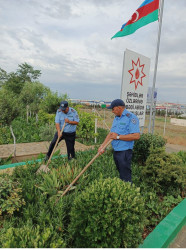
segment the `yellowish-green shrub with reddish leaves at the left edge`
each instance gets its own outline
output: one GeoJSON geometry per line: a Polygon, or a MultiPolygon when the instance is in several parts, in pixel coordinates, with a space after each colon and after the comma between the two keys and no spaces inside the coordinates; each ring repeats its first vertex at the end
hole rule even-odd
{"type": "Polygon", "coordinates": [[[20,184],[12,181],[8,176],[0,176],[0,215],[12,215],[23,205],[25,201],[22,198],[20,184]]]}

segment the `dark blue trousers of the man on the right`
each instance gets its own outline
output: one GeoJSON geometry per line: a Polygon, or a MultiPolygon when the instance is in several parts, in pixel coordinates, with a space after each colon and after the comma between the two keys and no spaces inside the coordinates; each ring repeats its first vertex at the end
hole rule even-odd
{"type": "Polygon", "coordinates": [[[132,149],[124,151],[114,151],[114,161],[120,174],[120,179],[123,181],[132,182],[131,176],[131,161],[132,149]]]}

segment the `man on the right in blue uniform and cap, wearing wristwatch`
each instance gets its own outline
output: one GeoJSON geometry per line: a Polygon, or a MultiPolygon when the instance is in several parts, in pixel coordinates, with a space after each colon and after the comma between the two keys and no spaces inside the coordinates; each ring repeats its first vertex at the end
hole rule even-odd
{"type": "Polygon", "coordinates": [[[108,107],[115,114],[110,133],[107,135],[98,152],[104,153],[103,146],[110,140],[114,149],[114,161],[123,181],[132,182],[131,160],[134,140],[140,138],[139,119],[133,113],[125,109],[125,103],[121,99],[111,102],[108,107]]]}

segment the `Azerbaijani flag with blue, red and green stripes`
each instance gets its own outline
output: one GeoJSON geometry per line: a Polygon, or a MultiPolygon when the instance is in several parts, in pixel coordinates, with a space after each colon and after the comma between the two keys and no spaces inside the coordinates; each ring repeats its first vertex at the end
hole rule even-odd
{"type": "Polygon", "coordinates": [[[131,19],[123,24],[121,30],[112,38],[127,36],[134,33],[137,29],[158,20],[158,14],[159,0],[145,0],[134,12],[131,19]]]}

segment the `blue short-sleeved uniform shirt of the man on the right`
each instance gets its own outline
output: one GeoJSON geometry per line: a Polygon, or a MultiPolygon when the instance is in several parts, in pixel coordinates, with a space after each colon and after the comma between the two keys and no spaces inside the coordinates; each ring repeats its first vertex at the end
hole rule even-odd
{"type": "MultiPolygon", "coordinates": [[[[136,115],[124,109],[122,115],[116,116],[113,123],[111,132],[115,132],[118,135],[128,135],[133,133],[139,133],[139,119],[136,115]]],[[[114,151],[123,151],[127,149],[133,149],[134,141],[122,141],[113,140],[112,147],[114,151]]]]}

